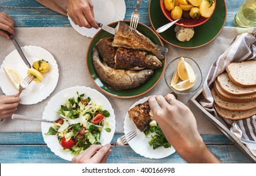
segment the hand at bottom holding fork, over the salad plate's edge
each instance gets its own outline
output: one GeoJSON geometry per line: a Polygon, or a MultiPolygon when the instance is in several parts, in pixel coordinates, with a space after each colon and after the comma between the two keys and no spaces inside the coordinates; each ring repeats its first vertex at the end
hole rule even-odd
{"type": "Polygon", "coordinates": [[[105,163],[111,153],[111,145],[91,145],[82,153],[73,157],[71,163],[105,163]]]}

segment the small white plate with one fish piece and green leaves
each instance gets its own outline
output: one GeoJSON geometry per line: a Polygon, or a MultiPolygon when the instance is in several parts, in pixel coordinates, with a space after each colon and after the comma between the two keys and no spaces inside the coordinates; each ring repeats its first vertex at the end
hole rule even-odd
{"type": "MultiPolygon", "coordinates": [[[[135,102],[131,108],[146,101],[148,101],[148,97],[144,97],[143,99],[135,102]]],[[[164,148],[163,146],[153,150],[153,147],[148,144],[150,138],[146,138],[145,134],[136,128],[135,124],[132,123],[131,119],[129,118],[129,114],[127,113],[124,120],[124,133],[127,134],[132,130],[137,132],[137,136],[129,141],[129,145],[137,154],[146,158],[160,159],[168,157],[175,152],[173,147],[164,148]]]]}

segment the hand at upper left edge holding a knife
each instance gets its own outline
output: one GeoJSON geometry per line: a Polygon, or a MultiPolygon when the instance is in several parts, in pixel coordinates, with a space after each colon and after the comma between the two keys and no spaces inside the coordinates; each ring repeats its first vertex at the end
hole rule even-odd
{"type": "Polygon", "coordinates": [[[0,35],[10,40],[11,38],[9,35],[3,30],[8,31],[12,35],[15,33],[15,22],[13,21],[13,18],[6,13],[0,13],[0,35]]]}

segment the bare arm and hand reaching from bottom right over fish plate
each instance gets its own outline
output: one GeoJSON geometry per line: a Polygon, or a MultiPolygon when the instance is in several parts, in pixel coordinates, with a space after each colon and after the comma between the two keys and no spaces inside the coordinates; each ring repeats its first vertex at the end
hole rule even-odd
{"type": "Polygon", "coordinates": [[[220,163],[209,151],[199,132],[189,107],[175,99],[173,94],[149,97],[149,106],[177,153],[189,163],[220,163]]]}

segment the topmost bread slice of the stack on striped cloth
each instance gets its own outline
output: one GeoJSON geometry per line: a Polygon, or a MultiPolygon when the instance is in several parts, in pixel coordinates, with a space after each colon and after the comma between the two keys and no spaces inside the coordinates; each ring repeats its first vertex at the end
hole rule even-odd
{"type": "Polygon", "coordinates": [[[256,60],[230,62],[226,66],[226,72],[236,85],[256,86],[256,60]]]}

